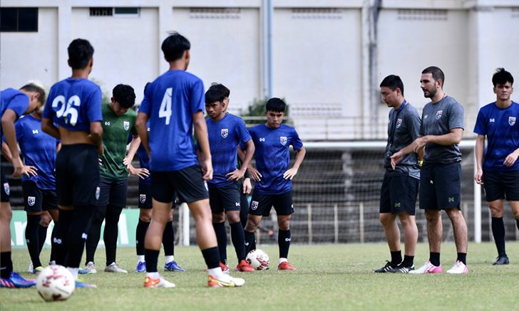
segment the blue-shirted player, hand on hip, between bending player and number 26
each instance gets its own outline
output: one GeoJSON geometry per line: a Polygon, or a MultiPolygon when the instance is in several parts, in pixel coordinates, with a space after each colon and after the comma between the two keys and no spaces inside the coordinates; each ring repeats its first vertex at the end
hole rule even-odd
{"type": "MultiPolygon", "coordinates": [[[[54,221],[53,233],[58,223],[58,203],[56,199],[56,178],[54,177],[54,163],[59,141],[41,130],[41,114],[45,97],[38,98],[38,107],[26,117],[16,122],[16,140],[21,154],[24,155],[24,174],[21,187],[24,195],[27,225],[25,238],[27,249],[31,257],[31,273],[43,270],[40,261],[40,252],[47,235],[48,222],[51,217],[54,221]],[[42,223],[46,226],[42,226],[42,223]]],[[[11,152],[2,143],[4,154],[11,162],[11,152]]],[[[53,253],[51,252],[51,260],[53,253]]]]}

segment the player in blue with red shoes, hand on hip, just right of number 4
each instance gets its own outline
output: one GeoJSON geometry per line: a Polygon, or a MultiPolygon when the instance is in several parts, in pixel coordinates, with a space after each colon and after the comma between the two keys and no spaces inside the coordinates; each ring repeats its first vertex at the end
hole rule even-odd
{"type": "MultiPolygon", "coordinates": [[[[212,156],[214,172],[212,180],[207,181],[209,203],[212,210],[212,226],[215,228],[218,248],[220,249],[220,266],[229,270],[227,257],[227,232],[225,230],[225,214],[231,227],[232,244],[235,246],[238,265],[235,270],[252,272],[254,269],[245,261],[245,236],[240,222],[240,186],[241,179],[252,159],[255,147],[245,122],[240,117],[225,113],[226,93],[217,88],[210,88],[205,93],[205,110],[207,132],[212,156]],[[246,154],[243,165],[237,169],[237,147],[245,145],[246,154]]],[[[227,97],[228,98],[228,97],[227,97]]]]}

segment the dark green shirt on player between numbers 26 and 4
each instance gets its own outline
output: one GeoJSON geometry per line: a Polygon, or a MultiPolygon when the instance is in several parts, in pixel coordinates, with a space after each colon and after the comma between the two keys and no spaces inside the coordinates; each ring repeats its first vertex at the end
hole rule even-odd
{"type": "Polygon", "coordinates": [[[126,145],[130,133],[137,135],[135,120],[137,112],[129,109],[124,115],[118,117],[110,109],[110,106],[103,105],[103,147],[105,154],[100,159],[100,176],[104,179],[127,179],[128,169],[123,164],[126,157],[126,145]]]}

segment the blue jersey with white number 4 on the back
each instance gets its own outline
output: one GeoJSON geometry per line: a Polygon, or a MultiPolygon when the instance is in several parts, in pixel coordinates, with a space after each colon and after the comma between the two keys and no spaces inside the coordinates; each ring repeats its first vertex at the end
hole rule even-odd
{"type": "Polygon", "coordinates": [[[204,110],[204,85],[184,70],[169,70],[146,88],[139,112],[149,117],[152,171],[178,171],[198,163],[192,115],[204,110]]]}

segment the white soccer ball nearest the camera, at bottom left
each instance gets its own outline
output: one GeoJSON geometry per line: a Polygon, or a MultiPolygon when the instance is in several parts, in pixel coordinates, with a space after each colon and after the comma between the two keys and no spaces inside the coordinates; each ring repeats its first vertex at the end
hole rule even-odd
{"type": "Polygon", "coordinates": [[[38,274],[36,288],[43,300],[66,300],[76,289],[76,281],[63,265],[49,265],[38,274]]]}

